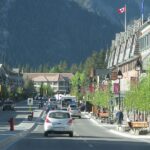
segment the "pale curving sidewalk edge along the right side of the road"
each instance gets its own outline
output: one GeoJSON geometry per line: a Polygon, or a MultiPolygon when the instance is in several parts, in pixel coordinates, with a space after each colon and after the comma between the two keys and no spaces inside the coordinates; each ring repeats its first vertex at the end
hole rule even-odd
{"type": "Polygon", "coordinates": [[[133,134],[132,131],[125,131],[125,130],[122,130],[122,128],[118,128],[117,124],[101,123],[99,119],[96,119],[90,113],[83,112],[83,114],[85,115],[86,118],[89,118],[93,123],[95,123],[98,126],[104,127],[105,129],[108,129],[108,131],[113,134],[123,136],[123,137],[133,138],[133,139],[139,139],[140,141],[150,143],[150,132],[148,132],[148,134],[145,134],[145,135],[135,135],[133,134]]]}

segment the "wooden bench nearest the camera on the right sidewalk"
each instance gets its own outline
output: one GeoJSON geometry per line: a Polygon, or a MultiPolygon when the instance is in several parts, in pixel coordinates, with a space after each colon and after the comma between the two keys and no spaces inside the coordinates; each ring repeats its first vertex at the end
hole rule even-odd
{"type": "Polygon", "coordinates": [[[147,131],[146,128],[149,127],[149,123],[146,121],[134,121],[130,122],[129,126],[134,131],[134,134],[139,134],[140,131],[147,131]]]}

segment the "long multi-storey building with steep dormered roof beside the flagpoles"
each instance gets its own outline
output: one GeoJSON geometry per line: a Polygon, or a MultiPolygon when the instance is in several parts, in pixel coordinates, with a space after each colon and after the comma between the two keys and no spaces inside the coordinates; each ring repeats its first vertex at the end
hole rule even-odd
{"type": "Polygon", "coordinates": [[[115,40],[109,51],[107,69],[112,78],[112,92],[115,95],[115,103],[121,101],[125,93],[131,89],[132,84],[137,84],[145,76],[150,66],[150,19],[141,24],[136,20],[127,27],[126,32],[116,34],[115,40]],[[136,69],[139,67],[139,69],[136,69]],[[122,78],[117,78],[118,70],[122,72],[122,78]]]}

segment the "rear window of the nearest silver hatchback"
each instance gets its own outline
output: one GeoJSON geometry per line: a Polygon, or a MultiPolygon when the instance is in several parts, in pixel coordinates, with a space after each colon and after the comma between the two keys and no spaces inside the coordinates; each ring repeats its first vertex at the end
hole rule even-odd
{"type": "Polygon", "coordinates": [[[55,119],[67,119],[70,118],[70,114],[65,112],[52,112],[49,114],[49,117],[55,119]]]}

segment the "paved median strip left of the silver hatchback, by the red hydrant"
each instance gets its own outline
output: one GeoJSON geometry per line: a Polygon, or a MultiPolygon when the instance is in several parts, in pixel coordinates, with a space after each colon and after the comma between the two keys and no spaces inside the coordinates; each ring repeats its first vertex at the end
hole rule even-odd
{"type": "Polygon", "coordinates": [[[36,122],[42,114],[43,110],[34,110],[32,121],[28,121],[28,119],[25,118],[19,125],[14,126],[14,131],[8,129],[7,131],[0,132],[0,150],[30,133],[31,130],[35,128],[36,122]]]}

